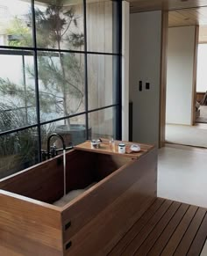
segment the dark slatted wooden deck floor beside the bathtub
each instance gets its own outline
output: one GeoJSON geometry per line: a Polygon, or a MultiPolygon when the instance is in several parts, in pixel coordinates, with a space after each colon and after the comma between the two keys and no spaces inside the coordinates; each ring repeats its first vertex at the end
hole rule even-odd
{"type": "Polygon", "coordinates": [[[158,198],[108,255],[198,256],[207,238],[206,211],[158,198]]]}

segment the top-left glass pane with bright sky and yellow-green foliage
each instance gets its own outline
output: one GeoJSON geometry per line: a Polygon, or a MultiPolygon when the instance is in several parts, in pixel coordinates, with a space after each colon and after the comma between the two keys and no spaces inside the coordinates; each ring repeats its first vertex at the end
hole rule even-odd
{"type": "Polygon", "coordinates": [[[31,1],[0,0],[0,45],[32,47],[31,1]]]}

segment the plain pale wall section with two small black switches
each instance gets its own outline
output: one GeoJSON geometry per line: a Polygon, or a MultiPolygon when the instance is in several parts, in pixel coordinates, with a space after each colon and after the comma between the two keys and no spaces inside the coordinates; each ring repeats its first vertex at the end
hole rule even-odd
{"type": "Polygon", "coordinates": [[[161,80],[161,11],[130,15],[130,99],[132,140],[159,143],[161,80]],[[139,80],[143,91],[139,91],[139,80]],[[150,90],[145,83],[150,82],[150,90]]]}

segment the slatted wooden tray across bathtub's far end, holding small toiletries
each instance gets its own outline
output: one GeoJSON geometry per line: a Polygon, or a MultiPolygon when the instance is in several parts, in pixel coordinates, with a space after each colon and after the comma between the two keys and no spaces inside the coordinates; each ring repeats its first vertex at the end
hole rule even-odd
{"type": "Polygon", "coordinates": [[[109,142],[110,142],[109,140],[102,139],[102,143],[100,143],[99,148],[96,149],[93,146],[91,146],[90,141],[86,141],[85,143],[75,146],[75,149],[76,150],[92,151],[92,152],[103,153],[103,154],[110,154],[110,155],[121,155],[123,157],[130,157],[130,158],[139,158],[142,155],[145,155],[146,152],[148,152],[149,150],[152,150],[154,147],[153,145],[139,143],[141,150],[139,152],[134,152],[132,150],[129,150],[131,145],[134,143],[115,141],[115,149],[112,150],[109,142]],[[125,154],[118,153],[118,144],[119,143],[125,143],[125,147],[126,147],[125,154]]]}

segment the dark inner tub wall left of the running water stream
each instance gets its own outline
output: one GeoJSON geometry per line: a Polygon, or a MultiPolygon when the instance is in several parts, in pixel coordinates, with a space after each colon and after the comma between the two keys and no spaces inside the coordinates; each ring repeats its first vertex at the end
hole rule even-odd
{"type": "Polygon", "coordinates": [[[0,182],[0,189],[52,203],[63,195],[63,160],[55,157],[0,182]]]}

